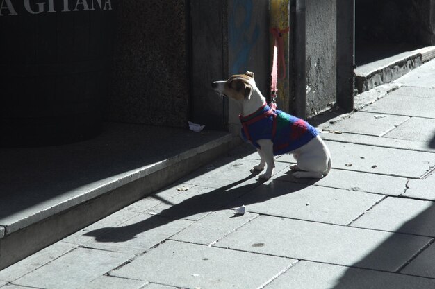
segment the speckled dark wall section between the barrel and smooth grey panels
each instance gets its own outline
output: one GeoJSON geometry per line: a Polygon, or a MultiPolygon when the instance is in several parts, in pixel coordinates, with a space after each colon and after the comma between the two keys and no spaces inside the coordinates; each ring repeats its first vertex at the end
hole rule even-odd
{"type": "Polygon", "coordinates": [[[129,0],[113,5],[117,25],[106,119],[186,126],[186,0],[129,0]]]}

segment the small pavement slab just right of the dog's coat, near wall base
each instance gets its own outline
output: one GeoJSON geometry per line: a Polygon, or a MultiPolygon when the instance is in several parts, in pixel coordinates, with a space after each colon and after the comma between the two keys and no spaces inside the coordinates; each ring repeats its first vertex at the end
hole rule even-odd
{"type": "Polygon", "coordinates": [[[330,125],[327,130],[380,137],[408,119],[408,116],[355,112],[346,119],[330,125]]]}

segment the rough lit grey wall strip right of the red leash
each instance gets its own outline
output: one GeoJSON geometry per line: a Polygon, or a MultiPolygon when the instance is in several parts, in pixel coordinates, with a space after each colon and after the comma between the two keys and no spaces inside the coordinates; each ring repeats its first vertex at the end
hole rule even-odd
{"type": "Polygon", "coordinates": [[[306,116],[336,100],[336,0],[306,0],[306,116]]]}

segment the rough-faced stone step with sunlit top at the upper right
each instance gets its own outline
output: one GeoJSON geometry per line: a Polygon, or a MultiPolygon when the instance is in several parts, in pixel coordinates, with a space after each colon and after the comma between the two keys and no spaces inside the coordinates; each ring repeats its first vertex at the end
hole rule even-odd
{"type": "Polygon", "coordinates": [[[361,94],[363,91],[393,82],[432,58],[435,58],[435,46],[407,51],[356,67],[355,89],[361,94]]]}

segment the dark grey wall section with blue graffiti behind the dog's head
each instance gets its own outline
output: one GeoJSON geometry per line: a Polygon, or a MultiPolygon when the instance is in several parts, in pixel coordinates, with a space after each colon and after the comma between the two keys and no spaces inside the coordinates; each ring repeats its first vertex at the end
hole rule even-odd
{"type": "Polygon", "coordinates": [[[267,93],[268,13],[263,0],[190,0],[193,121],[238,134],[240,107],[211,89],[215,80],[249,70],[267,93]]]}

